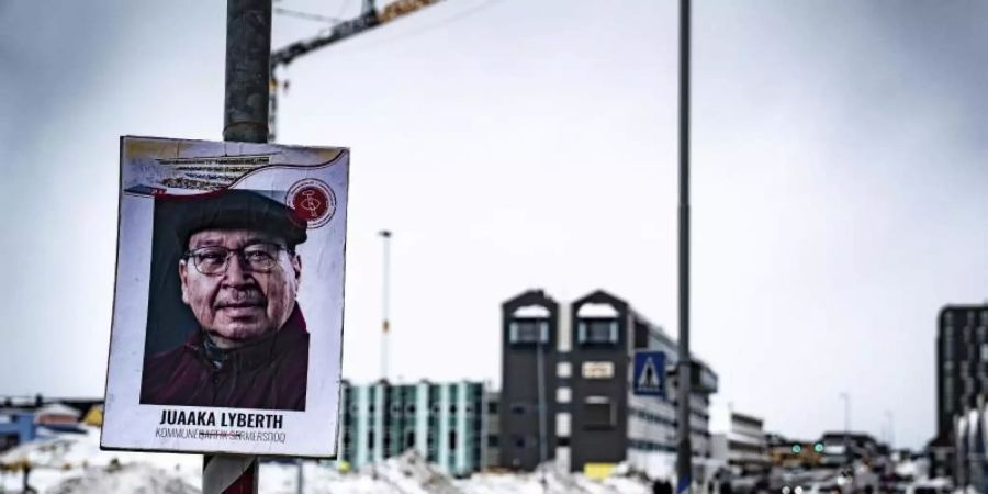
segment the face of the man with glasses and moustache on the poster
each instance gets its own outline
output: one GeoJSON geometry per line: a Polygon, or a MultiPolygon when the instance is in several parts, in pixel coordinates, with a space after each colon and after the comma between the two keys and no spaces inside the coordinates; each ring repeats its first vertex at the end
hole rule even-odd
{"type": "MultiPolygon", "coordinates": [[[[245,256],[231,254],[226,270],[203,274],[193,258],[179,261],[182,302],[221,348],[234,348],[277,332],[292,313],[302,261],[287,251],[284,239],[252,229],[204,229],[189,238],[189,250],[225,247],[252,250],[277,245],[267,272],[251,269],[245,256]]],[[[200,265],[202,267],[202,263],[200,265]]]]}

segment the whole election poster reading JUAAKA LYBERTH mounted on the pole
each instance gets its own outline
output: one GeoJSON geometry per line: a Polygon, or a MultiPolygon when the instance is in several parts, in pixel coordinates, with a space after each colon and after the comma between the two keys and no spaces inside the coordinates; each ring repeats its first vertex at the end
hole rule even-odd
{"type": "Polygon", "coordinates": [[[103,449],[332,458],[349,150],[122,137],[103,449]]]}

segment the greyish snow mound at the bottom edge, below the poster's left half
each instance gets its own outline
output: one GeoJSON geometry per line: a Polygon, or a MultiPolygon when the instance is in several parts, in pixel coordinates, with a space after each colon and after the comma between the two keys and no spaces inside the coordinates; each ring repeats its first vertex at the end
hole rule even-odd
{"type": "Polygon", "coordinates": [[[45,491],[46,494],[197,494],[198,487],[161,469],[148,464],[87,469],[45,491]]]}

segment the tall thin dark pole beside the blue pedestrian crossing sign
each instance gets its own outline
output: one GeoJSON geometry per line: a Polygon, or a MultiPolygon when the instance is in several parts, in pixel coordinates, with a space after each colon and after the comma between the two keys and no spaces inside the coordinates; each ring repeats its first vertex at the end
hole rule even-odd
{"type": "Polygon", "coordinates": [[[689,440],[689,0],[680,0],[680,348],[676,492],[689,492],[693,445],[689,440]]]}

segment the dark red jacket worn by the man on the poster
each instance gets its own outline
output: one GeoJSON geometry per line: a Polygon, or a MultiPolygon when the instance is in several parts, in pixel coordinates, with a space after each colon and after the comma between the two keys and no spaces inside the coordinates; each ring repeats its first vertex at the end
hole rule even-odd
{"type": "Polygon", "coordinates": [[[304,411],[307,375],[308,332],[296,305],[281,329],[227,351],[220,368],[205,356],[202,332],[147,359],[141,403],[304,411]]]}

